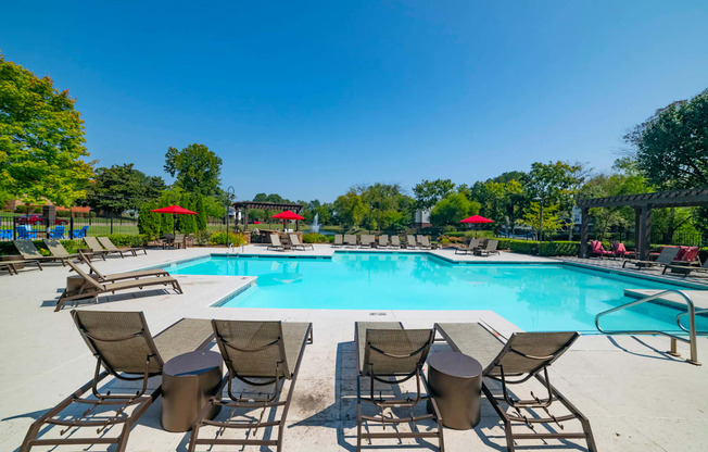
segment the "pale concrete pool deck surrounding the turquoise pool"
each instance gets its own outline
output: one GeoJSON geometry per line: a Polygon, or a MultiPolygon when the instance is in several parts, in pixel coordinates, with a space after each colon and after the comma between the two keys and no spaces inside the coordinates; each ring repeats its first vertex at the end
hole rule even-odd
{"type": "MultiPolygon", "coordinates": [[[[346,249],[344,249],[346,250],[346,249]]],[[[123,272],[168,262],[223,253],[224,249],[150,250],[148,255],[96,261],[100,271],[123,272]]],[[[273,254],[264,247],[244,247],[245,253],[273,254]]],[[[293,255],[331,255],[331,247],[293,255]]],[[[557,262],[543,258],[502,253],[501,256],[454,255],[444,259],[484,263],[557,262]]],[[[94,359],[80,339],[66,306],[55,313],[54,300],[68,269],[47,266],[43,272],[22,271],[0,276],[2,319],[0,343],[0,450],[16,450],[28,426],[46,410],[88,381],[94,359]]],[[[126,292],[81,303],[77,309],[143,311],[153,334],[181,317],[251,318],[312,322],[315,342],[305,350],[295,398],[285,432],[286,451],[353,451],[356,445],[356,404],[353,331],[356,321],[400,321],[408,328],[431,327],[434,322],[482,321],[508,335],[517,328],[491,311],[344,311],[218,309],[210,305],[232,293],[251,278],[238,276],[177,276],[185,294],[172,291],[126,292]],[[151,296],[148,296],[150,292],[151,296]]],[[[699,451],[708,444],[708,339],[699,338],[693,366],[665,353],[669,340],[660,337],[583,336],[551,368],[554,385],[589,418],[600,451],[699,451]]],[[[446,346],[435,344],[433,352],[446,346]]],[[[687,347],[679,344],[687,356],[687,347]]],[[[154,384],[154,382],[153,382],[154,384]]],[[[536,388],[532,388],[536,389],[536,388]]],[[[519,391],[528,395],[527,391],[519,391]]],[[[186,451],[190,434],[172,434],[160,427],[161,400],[134,427],[128,451],[186,451]]],[[[504,429],[488,402],[482,422],[466,431],[445,429],[445,447],[455,451],[503,451],[504,429]]],[[[585,450],[584,442],[522,441],[519,449],[585,450]],[[522,448],[529,445],[530,448],[522,448]]],[[[438,450],[434,442],[376,441],[372,450],[438,450]]],[[[41,448],[33,450],[42,450],[41,448]]],[[[59,449],[66,450],[66,449],[59,449]]],[[[76,450],[76,449],[68,449],[76,450]]],[[[93,445],[91,451],[105,450],[93,445]]],[[[219,449],[220,450],[220,449],[219,449]]],[[[241,450],[241,449],[232,449],[241,450]]],[[[255,448],[246,450],[256,450],[255,448]]],[[[264,449],[267,450],[267,449],[264,449]]],[[[366,448],[365,448],[366,450],[366,448]]]]}

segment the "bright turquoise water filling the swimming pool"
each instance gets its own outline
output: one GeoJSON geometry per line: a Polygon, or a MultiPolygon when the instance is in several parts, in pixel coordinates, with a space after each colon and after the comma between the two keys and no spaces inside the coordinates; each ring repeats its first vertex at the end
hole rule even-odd
{"type": "MultiPolygon", "coordinates": [[[[332,259],[211,256],[177,275],[257,276],[224,307],[491,310],[528,331],[596,331],[595,315],[632,299],[623,289],[685,289],[560,264],[465,265],[427,254],[334,253],[332,259]]],[[[608,329],[675,330],[678,311],[645,303],[610,314],[608,329]]],[[[708,319],[698,326],[708,329],[708,319]]]]}

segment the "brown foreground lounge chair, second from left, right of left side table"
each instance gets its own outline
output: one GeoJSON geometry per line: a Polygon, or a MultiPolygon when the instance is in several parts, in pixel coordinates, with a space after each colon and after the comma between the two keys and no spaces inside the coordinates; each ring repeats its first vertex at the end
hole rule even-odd
{"type": "MultiPolygon", "coordinates": [[[[224,363],[228,369],[228,399],[222,399],[220,394],[225,382],[222,382],[217,394],[204,406],[200,416],[194,422],[192,435],[189,441],[189,451],[193,452],[197,445],[271,445],[277,451],[282,450],[282,436],[286,428],[288,410],[292,402],[295,381],[300,373],[300,364],[305,351],[305,346],[313,342],[312,324],[309,323],[286,323],[286,322],[246,322],[246,321],[212,321],[216,343],[218,344],[224,363]],[[233,390],[233,380],[238,379],[249,387],[252,392],[258,395],[244,393],[243,388],[238,392],[233,390]],[[290,380],[288,394],[281,399],[283,380],[290,380]],[[263,393],[260,388],[267,385],[275,385],[271,393],[263,393]],[[237,409],[258,411],[263,413],[270,409],[273,416],[266,420],[258,417],[246,419],[232,419],[230,416],[225,422],[210,420],[208,414],[214,407],[227,407],[233,413],[237,409]],[[276,414],[279,418],[275,418],[276,414]],[[277,439],[245,438],[220,438],[218,435],[210,435],[200,438],[200,429],[205,426],[217,427],[218,429],[255,429],[274,427],[278,429],[277,439]]],[[[243,386],[237,381],[239,387],[243,386]]],[[[246,391],[248,392],[248,391],[246,391]]],[[[246,416],[249,416],[246,414],[246,416]]],[[[255,434],[255,430],[252,434],[255,434]]]]}

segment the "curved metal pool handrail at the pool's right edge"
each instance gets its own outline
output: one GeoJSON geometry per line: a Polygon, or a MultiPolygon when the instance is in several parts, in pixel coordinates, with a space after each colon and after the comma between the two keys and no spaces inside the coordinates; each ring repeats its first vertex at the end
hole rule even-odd
{"type": "Polygon", "coordinates": [[[696,313],[701,314],[704,312],[708,312],[708,309],[699,309],[696,310],[696,306],[687,294],[685,294],[681,290],[663,290],[661,292],[655,293],[650,297],[647,298],[641,298],[639,300],[631,301],[629,303],[622,304],[621,306],[612,307],[611,310],[603,311],[599,314],[595,316],[595,327],[597,327],[597,330],[599,332],[603,332],[605,335],[662,335],[671,338],[671,350],[669,351],[669,354],[672,356],[681,356],[681,354],[677,350],[677,341],[682,341],[688,343],[691,348],[691,359],[686,360],[691,364],[695,364],[697,366],[700,365],[698,362],[698,348],[696,343],[696,336],[697,335],[706,335],[708,331],[696,331],[696,313]],[[599,317],[603,317],[607,314],[611,314],[617,311],[624,310],[627,307],[632,307],[636,306],[637,304],[646,303],[647,301],[653,301],[662,298],[666,294],[672,294],[677,293],[679,294],[683,301],[686,302],[686,312],[682,312],[679,315],[677,315],[677,325],[679,328],[682,330],[686,331],[688,334],[688,339],[685,337],[672,335],[667,331],[658,331],[658,330],[652,330],[652,329],[639,329],[639,330],[631,330],[631,329],[618,329],[618,330],[605,330],[599,327],[599,317]],[[688,316],[688,329],[684,328],[683,325],[681,325],[681,319],[684,316],[688,316]]]}

